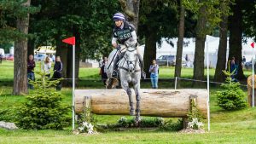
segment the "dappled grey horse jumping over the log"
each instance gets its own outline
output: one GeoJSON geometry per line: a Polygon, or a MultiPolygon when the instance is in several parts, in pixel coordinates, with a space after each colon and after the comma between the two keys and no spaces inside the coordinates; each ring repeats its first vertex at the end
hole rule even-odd
{"type": "MultiPolygon", "coordinates": [[[[125,89],[128,97],[129,97],[129,104],[130,104],[130,115],[136,115],[135,121],[136,124],[140,122],[140,79],[141,79],[141,67],[139,66],[138,54],[137,54],[137,47],[135,46],[126,46],[125,49],[121,49],[123,52],[122,58],[119,60],[119,78],[121,82],[121,86],[125,89]],[[137,107],[136,111],[133,106],[132,100],[132,92],[130,89],[129,84],[133,84],[133,89],[136,95],[137,107]]],[[[113,66],[111,60],[113,57],[116,56],[118,51],[113,50],[108,57],[108,78],[111,78],[111,73],[113,72],[113,66]]]]}

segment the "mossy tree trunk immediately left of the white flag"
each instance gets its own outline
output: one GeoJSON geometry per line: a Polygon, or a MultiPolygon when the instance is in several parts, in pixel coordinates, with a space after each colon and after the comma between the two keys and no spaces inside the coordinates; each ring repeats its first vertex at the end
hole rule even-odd
{"type": "MultiPolygon", "coordinates": [[[[205,41],[206,41],[206,6],[201,6],[199,11],[199,18],[196,24],[196,35],[195,35],[195,59],[194,59],[194,72],[193,79],[203,80],[204,79],[204,59],[205,59],[205,41]]],[[[203,83],[194,82],[194,86],[201,86],[203,83]]]]}

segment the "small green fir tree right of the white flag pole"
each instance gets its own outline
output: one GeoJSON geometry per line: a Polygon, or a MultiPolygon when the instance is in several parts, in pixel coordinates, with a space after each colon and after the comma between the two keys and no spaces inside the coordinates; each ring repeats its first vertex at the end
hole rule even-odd
{"type": "Polygon", "coordinates": [[[245,93],[241,90],[240,84],[232,82],[231,78],[226,78],[227,84],[222,84],[223,90],[217,91],[218,106],[225,110],[238,110],[247,107],[245,93]]]}

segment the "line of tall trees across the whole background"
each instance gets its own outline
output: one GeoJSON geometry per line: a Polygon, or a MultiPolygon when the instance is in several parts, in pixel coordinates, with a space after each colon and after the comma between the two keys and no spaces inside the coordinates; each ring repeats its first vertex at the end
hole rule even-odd
{"type": "MultiPolygon", "coordinates": [[[[139,43],[145,44],[144,71],[156,59],[156,43],[178,37],[175,76],[182,68],[183,37],[195,37],[194,79],[204,78],[206,35],[218,30],[218,62],[214,81],[223,82],[228,37],[229,59],[236,57],[237,78],[243,79],[241,43],[255,36],[254,0],[1,0],[0,44],[15,42],[14,94],[27,93],[26,60],[43,45],[56,48],[61,56],[64,78],[72,78],[72,49],[61,40],[75,36],[76,78],[79,60],[101,59],[113,49],[112,15],[123,12],[137,27],[139,43]],[[19,74],[18,74],[19,73],[19,74]]],[[[149,74],[148,74],[149,76],[149,74]]],[[[68,83],[67,83],[68,84],[68,83]]],[[[197,85],[197,84],[196,84],[197,85]]]]}

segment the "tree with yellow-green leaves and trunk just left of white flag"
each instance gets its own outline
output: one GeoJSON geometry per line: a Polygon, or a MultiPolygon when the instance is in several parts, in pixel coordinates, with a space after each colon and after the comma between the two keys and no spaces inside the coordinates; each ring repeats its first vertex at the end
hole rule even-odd
{"type": "MultiPolygon", "coordinates": [[[[219,9],[220,0],[191,0],[184,1],[186,9],[191,10],[197,16],[196,35],[195,35],[195,59],[193,78],[202,80],[204,78],[204,49],[206,35],[218,26],[221,21],[221,15],[225,10],[219,9]]],[[[201,85],[195,82],[194,85],[201,85]]]]}

